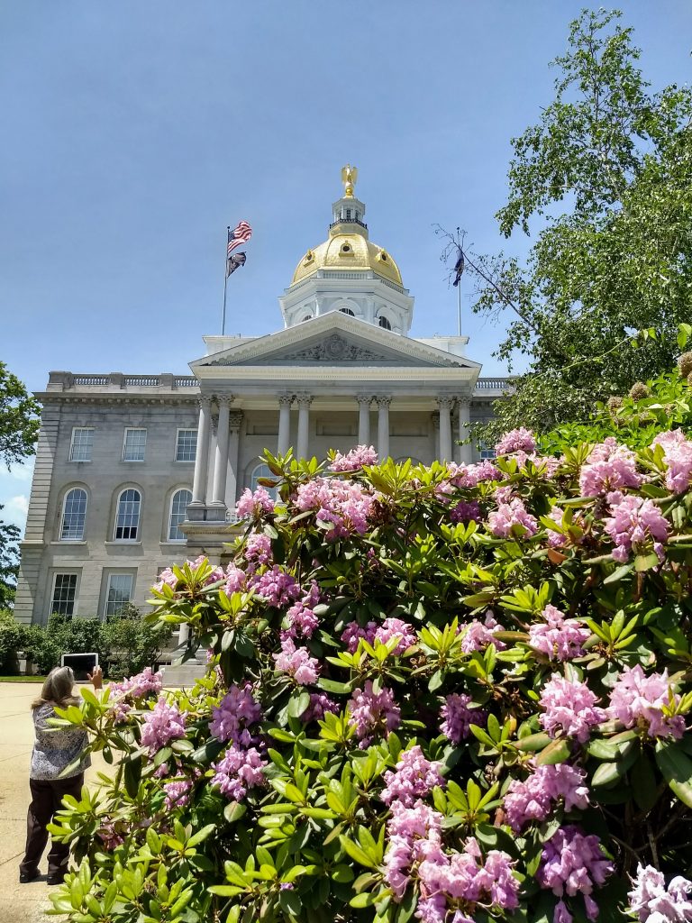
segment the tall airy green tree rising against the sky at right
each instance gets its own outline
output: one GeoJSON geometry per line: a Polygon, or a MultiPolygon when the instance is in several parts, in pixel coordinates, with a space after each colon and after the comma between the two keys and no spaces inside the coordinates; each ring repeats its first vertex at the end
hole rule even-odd
{"type": "Polygon", "coordinates": [[[692,293],[692,94],[650,92],[620,13],[585,10],[555,58],[555,100],[513,138],[502,234],[532,237],[524,264],[467,253],[473,310],[507,316],[496,355],[528,360],[486,432],[587,416],[673,365],[692,293]],[[656,339],[632,349],[637,330],[656,339]]]}

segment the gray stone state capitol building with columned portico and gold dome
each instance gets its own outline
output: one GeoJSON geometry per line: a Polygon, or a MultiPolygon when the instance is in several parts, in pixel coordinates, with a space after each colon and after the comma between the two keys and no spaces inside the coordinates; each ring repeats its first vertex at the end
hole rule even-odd
{"type": "Polygon", "coordinates": [[[327,240],[279,298],[283,328],[207,336],[191,375],[51,372],[21,543],[15,615],[117,614],[145,605],[161,569],[223,557],[235,500],[266,476],[268,448],[324,458],[475,461],[456,440],[492,415],[506,378],[481,378],[467,337],[413,339],[413,297],[369,239],[353,183],[327,240]]]}

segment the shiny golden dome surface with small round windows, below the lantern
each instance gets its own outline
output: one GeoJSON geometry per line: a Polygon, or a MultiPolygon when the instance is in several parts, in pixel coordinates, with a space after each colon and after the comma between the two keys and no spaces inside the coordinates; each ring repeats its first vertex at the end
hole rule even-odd
{"type": "Polygon", "coordinates": [[[387,250],[366,240],[363,234],[348,234],[339,228],[332,229],[324,244],[307,251],[295,268],[291,284],[301,282],[317,270],[372,270],[389,282],[402,284],[399,267],[387,250]]]}

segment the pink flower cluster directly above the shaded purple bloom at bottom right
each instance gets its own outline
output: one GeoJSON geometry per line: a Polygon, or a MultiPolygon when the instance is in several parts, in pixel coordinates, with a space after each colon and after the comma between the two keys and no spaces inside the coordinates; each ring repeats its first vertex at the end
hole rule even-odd
{"type": "Polygon", "coordinates": [[[505,796],[507,823],[521,833],[527,823],[544,821],[555,801],[565,799],[565,810],[589,807],[586,773],[567,762],[555,766],[537,766],[524,782],[513,779],[505,796]]]}

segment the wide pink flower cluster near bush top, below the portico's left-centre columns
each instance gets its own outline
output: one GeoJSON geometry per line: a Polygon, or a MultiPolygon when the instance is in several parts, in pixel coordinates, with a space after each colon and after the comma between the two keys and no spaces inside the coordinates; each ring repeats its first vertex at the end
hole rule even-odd
{"type": "Polygon", "coordinates": [[[352,533],[364,535],[374,501],[375,497],[354,481],[316,477],[299,485],[294,502],[297,509],[316,510],[316,521],[330,524],[326,535],[334,541],[352,533]]]}

